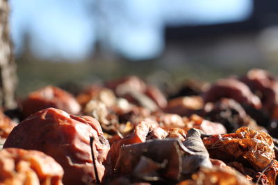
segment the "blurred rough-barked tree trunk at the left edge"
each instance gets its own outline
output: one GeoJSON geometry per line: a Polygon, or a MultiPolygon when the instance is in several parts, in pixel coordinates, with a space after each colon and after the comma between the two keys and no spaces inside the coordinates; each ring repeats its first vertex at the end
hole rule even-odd
{"type": "Polygon", "coordinates": [[[8,0],[0,0],[0,107],[16,107],[15,86],[17,83],[13,46],[8,24],[10,8],[8,0]]]}

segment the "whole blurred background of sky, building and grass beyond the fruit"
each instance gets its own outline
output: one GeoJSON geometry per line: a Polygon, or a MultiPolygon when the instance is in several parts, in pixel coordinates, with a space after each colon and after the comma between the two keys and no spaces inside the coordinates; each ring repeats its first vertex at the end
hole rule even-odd
{"type": "Polygon", "coordinates": [[[213,81],[278,73],[278,1],[10,0],[17,94],[131,74],[213,81]]]}

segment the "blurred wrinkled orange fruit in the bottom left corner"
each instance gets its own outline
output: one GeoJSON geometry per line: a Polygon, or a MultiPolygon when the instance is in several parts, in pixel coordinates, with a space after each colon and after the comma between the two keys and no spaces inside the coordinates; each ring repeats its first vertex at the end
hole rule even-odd
{"type": "Polygon", "coordinates": [[[0,184],[61,185],[63,168],[52,157],[36,150],[0,150],[0,184]]]}

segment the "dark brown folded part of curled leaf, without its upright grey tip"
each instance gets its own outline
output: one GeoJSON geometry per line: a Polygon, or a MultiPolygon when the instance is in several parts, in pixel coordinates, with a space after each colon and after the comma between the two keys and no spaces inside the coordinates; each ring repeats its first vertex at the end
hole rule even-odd
{"type": "MultiPolygon", "coordinates": [[[[158,173],[158,177],[177,180],[181,175],[181,157],[185,152],[191,155],[195,154],[184,147],[179,139],[154,139],[145,143],[122,146],[115,168],[113,168],[113,175],[114,177],[120,177],[122,175],[129,175],[134,169],[142,170],[142,166],[138,165],[141,165],[140,162],[146,163],[141,158],[144,156],[155,162],[147,162],[149,166],[152,166],[152,169],[151,167],[149,169],[146,168],[146,173],[154,174],[154,176],[158,173]]],[[[140,173],[142,174],[143,172],[141,171],[140,173]]]]}

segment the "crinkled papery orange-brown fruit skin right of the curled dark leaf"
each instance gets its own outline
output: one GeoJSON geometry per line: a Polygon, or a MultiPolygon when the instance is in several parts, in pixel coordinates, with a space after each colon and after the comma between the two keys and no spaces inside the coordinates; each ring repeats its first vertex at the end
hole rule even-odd
{"type": "Polygon", "coordinates": [[[275,146],[272,137],[265,132],[258,132],[250,127],[240,127],[236,133],[205,137],[203,142],[213,159],[246,160],[257,172],[267,168],[265,175],[269,184],[276,184],[278,161],[275,160],[275,146]]]}

